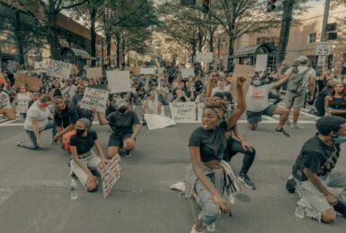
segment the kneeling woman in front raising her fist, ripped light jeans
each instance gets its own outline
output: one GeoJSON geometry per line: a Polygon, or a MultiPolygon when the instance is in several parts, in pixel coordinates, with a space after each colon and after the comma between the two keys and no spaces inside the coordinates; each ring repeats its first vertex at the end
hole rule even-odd
{"type": "Polygon", "coordinates": [[[226,121],[219,121],[218,110],[213,105],[206,105],[202,113],[202,126],[191,134],[191,166],[184,178],[185,196],[193,196],[202,208],[191,233],[203,232],[203,229],[215,223],[220,211],[229,214],[229,207],[222,196],[225,193],[232,195],[240,189],[236,187],[236,178],[231,177],[232,169],[223,159],[226,130],[236,125],[246,109],[244,82],[244,78],[237,80],[237,108],[232,116],[226,121]],[[233,190],[229,190],[229,187],[233,190]]]}

